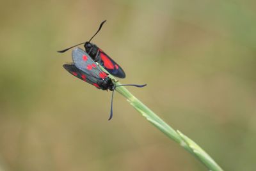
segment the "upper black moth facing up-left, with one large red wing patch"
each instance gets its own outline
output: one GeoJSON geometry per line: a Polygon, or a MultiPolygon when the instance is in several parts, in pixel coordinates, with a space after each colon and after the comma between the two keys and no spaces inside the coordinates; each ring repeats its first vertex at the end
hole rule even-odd
{"type": "MultiPolygon", "coordinates": [[[[101,27],[103,26],[104,20],[98,29],[98,31],[92,36],[92,38],[89,41],[86,41],[84,43],[79,43],[78,45],[84,44],[84,48],[86,52],[92,57],[93,61],[99,63],[105,70],[107,70],[111,75],[114,75],[115,77],[119,78],[125,78],[125,72],[124,70],[118,65],[111,57],[109,57],[105,52],[103,52],[97,45],[90,43],[90,41],[93,39],[93,37],[100,31],[101,27]]],[[[78,45],[75,45],[73,47],[76,47],[78,45]]],[[[70,48],[73,48],[70,47],[70,48]]],[[[66,48],[64,50],[60,50],[58,52],[63,53],[69,50],[70,48],[66,48]]]]}

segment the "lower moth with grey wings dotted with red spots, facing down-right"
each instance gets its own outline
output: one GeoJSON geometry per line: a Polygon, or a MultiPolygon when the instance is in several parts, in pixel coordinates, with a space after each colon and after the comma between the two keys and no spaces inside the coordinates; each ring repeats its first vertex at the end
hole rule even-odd
{"type": "Polygon", "coordinates": [[[115,88],[118,86],[132,85],[135,87],[144,87],[144,85],[136,84],[125,84],[125,85],[115,85],[113,80],[108,77],[94,61],[93,59],[81,48],[75,48],[72,50],[72,60],[73,63],[64,64],[63,67],[72,75],[94,85],[98,89],[113,91],[111,98],[111,110],[109,120],[113,116],[113,96],[115,88]]]}

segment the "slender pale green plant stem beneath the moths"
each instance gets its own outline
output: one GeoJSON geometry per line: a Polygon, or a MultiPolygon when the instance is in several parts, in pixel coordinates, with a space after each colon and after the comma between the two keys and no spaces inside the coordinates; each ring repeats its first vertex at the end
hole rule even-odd
{"type": "MultiPolygon", "coordinates": [[[[112,79],[115,78],[109,75],[112,79]]],[[[121,85],[120,82],[115,82],[115,85],[121,85]]],[[[146,105],[144,105],[140,100],[133,96],[124,86],[116,87],[116,91],[122,96],[124,96],[127,101],[134,107],[140,114],[142,114],[150,123],[152,123],[156,128],[161,130],[167,137],[171,138],[175,142],[179,143],[186,151],[190,152],[199,161],[204,163],[204,165],[212,171],[220,171],[222,168],[212,160],[211,156],[207,154],[199,145],[197,145],[193,140],[186,137],[179,130],[173,130],[171,126],[166,124],[160,117],[158,117],[152,110],[150,110],[146,105]]]]}

